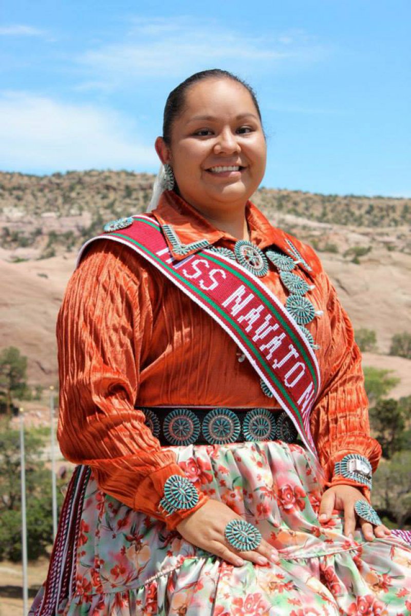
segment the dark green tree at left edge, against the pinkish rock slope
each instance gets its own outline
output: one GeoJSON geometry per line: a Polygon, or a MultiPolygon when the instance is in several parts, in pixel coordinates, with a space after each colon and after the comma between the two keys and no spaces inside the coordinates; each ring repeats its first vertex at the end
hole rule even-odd
{"type": "Polygon", "coordinates": [[[17,347],[7,347],[0,352],[0,392],[6,402],[6,413],[10,415],[13,396],[21,398],[27,389],[27,357],[17,347]]]}

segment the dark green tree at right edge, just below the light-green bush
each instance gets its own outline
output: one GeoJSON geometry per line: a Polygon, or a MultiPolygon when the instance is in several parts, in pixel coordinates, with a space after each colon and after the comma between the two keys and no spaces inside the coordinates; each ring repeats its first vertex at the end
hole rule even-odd
{"type": "Polygon", "coordinates": [[[375,438],[383,448],[383,456],[392,458],[405,444],[405,419],[407,415],[398,400],[379,400],[370,409],[370,422],[375,438]]]}

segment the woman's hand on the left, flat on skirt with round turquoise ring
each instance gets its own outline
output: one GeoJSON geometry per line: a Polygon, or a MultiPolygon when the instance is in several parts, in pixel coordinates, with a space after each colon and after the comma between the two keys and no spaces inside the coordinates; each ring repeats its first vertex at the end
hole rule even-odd
{"type": "Polygon", "coordinates": [[[241,520],[242,517],[237,516],[221,501],[210,499],[197,511],[185,517],[176,528],[189,543],[216,554],[237,567],[243,565],[244,561],[266,565],[268,561],[278,560],[277,550],[264,539],[261,539],[260,545],[253,551],[240,552],[230,545],[224,535],[224,529],[227,523],[234,519],[241,520]]]}

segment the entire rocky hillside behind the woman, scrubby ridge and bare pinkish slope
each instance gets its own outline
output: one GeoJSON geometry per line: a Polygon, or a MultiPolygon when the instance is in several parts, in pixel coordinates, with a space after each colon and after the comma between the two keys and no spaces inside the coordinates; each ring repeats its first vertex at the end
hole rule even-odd
{"type": "MultiPolygon", "coordinates": [[[[31,383],[57,381],[55,318],[79,246],[105,222],[144,211],[152,183],[126,171],[0,173],[0,348],[28,355],[31,383]]],[[[381,354],[394,333],[411,331],[410,200],[262,188],[254,202],[319,251],[354,328],[375,330],[381,354]]],[[[411,362],[397,364],[405,382],[411,362]]]]}

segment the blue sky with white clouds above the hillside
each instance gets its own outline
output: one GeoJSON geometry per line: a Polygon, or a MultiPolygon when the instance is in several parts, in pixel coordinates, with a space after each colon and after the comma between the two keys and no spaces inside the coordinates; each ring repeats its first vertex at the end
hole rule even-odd
{"type": "Polygon", "coordinates": [[[225,68],[261,103],[267,187],[411,197],[411,2],[42,2],[0,13],[0,170],[155,172],[168,92],[225,68]]]}

